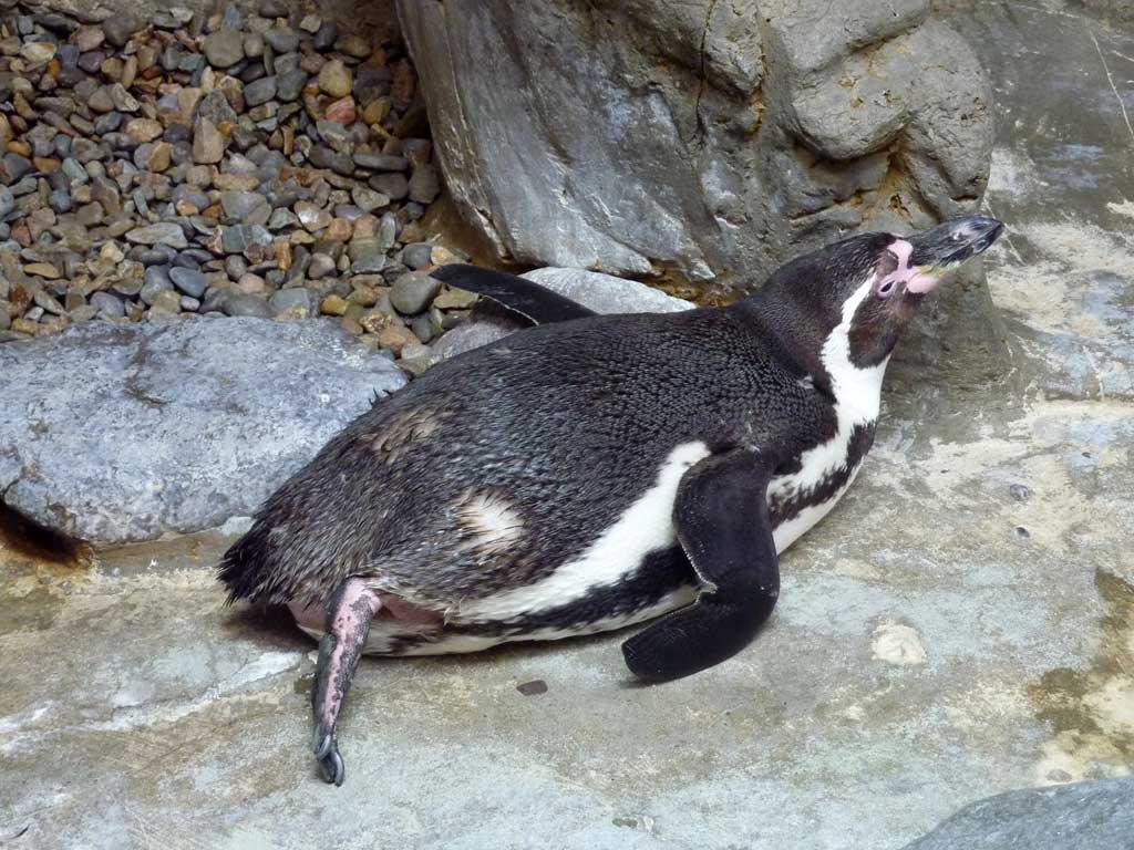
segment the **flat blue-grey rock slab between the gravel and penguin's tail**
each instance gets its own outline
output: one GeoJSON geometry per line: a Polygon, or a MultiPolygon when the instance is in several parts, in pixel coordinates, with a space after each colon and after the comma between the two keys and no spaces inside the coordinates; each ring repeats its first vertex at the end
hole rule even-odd
{"type": "Polygon", "coordinates": [[[0,494],[93,543],[249,516],[375,393],[390,360],[333,322],[91,323],[0,347],[0,494]]]}

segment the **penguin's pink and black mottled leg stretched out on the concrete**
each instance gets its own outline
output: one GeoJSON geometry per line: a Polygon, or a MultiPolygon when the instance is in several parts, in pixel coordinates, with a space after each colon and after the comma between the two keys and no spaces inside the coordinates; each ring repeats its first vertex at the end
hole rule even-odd
{"type": "Polygon", "coordinates": [[[319,641],[311,708],[315,758],[323,779],[336,785],[341,785],[345,779],[336,724],[366,645],[370,622],[381,609],[378,592],[361,578],[348,578],[339,585],[327,609],[327,634],[319,641]]]}

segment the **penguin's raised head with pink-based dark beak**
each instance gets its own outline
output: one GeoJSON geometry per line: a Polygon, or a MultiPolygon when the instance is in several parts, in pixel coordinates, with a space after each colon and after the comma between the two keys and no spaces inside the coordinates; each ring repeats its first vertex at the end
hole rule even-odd
{"type": "Polygon", "coordinates": [[[913,236],[863,233],[788,263],[769,279],[762,308],[804,362],[882,366],[941,278],[983,253],[1004,230],[972,215],[913,236]],[[769,300],[768,297],[771,297],[769,300]],[[785,308],[786,305],[787,306],[785,308]]]}

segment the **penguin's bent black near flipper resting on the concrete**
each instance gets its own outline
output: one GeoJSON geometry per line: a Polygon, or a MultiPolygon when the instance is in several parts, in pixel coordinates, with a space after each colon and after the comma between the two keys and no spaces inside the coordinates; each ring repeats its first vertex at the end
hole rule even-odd
{"type": "Polygon", "coordinates": [[[638,679],[665,682],[719,664],[747,646],[779,597],[779,561],[768,516],[768,470],[758,454],[705,458],[682,478],[677,537],[702,583],[687,607],[623,644],[638,679]]]}

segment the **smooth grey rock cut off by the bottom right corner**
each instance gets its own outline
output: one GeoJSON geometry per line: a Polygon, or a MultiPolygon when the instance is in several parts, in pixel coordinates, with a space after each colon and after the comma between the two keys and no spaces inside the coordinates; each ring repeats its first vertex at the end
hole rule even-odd
{"type": "Polygon", "coordinates": [[[1134,777],[1035,788],[966,806],[905,850],[1129,850],[1134,777]]]}

